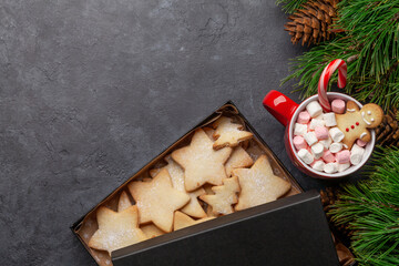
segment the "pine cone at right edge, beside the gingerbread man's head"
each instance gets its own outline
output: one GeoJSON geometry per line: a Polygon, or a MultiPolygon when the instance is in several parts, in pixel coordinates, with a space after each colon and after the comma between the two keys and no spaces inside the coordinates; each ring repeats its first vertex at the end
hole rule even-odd
{"type": "Polygon", "coordinates": [[[381,124],[376,129],[376,135],[380,145],[399,147],[399,121],[396,108],[383,115],[381,124]]]}

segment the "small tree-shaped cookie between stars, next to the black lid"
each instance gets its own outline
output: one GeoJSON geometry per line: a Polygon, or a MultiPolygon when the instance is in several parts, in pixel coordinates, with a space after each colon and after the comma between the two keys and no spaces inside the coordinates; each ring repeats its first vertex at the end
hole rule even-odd
{"type": "Polygon", "coordinates": [[[239,184],[237,176],[223,180],[222,186],[213,186],[214,195],[202,195],[201,200],[212,206],[214,215],[233,213],[233,204],[237,203],[237,193],[239,192],[239,184]]]}

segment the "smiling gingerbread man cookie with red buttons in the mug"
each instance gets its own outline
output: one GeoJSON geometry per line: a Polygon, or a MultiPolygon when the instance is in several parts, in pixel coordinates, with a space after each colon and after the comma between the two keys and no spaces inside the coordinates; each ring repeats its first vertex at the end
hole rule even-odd
{"type": "Polygon", "coordinates": [[[345,134],[342,143],[350,150],[357,139],[369,142],[370,131],[367,129],[377,127],[383,117],[383,111],[375,103],[368,103],[360,110],[352,102],[347,102],[345,114],[336,114],[337,127],[345,134]]]}

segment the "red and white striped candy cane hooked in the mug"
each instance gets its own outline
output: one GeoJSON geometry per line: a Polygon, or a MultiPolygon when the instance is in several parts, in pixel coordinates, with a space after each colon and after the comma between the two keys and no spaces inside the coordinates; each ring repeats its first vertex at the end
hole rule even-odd
{"type": "Polygon", "coordinates": [[[328,81],[332,73],[338,69],[338,88],[344,89],[347,78],[347,64],[341,59],[332,60],[323,71],[318,83],[318,96],[321,108],[326,112],[331,111],[331,105],[327,98],[328,81]]]}

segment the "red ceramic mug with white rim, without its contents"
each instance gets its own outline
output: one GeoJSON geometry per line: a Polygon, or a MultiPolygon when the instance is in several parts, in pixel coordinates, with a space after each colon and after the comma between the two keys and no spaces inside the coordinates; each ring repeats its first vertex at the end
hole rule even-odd
{"type": "MultiPolygon", "coordinates": [[[[345,102],[347,101],[354,101],[356,104],[361,109],[361,104],[356,101],[354,98],[348,96],[342,93],[336,93],[336,92],[327,92],[327,96],[329,101],[332,101],[334,99],[341,99],[345,102]]],[[[297,152],[294,147],[293,139],[294,139],[294,124],[297,121],[298,114],[305,110],[306,105],[311,102],[318,100],[318,95],[313,95],[308,99],[306,99],[300,104],[297,104],[283,93],[278,91],[272,90],[267,95],[265,96],[263,104],[267,111],[275,116],[278,122],[280,122],[285,127],[285,135],[284,135],[284,143],[286,146],[286,151],[288,153],[289,158],[291,160],[293,164],[297,166],[301,172],[305,174],[316,177],[316,178],[325,178],[325,180],[331,180],[331,178],[340,178],[344,176],[347,176],[349,174],[355,173],[358,171],[370,157],[372,149],[376,144],[376,133],[374,130],[370,130],[371,132],[371,141],[365,146],[365,154],[362,156],[361,162],[358,165],[351,165],[349,168],[345,170],[341,173],[334,173],[334,174],[327,174],[324,172],[316,171],[311,168],[309,165],[305,164],[297,155],[297,152]]]]}

